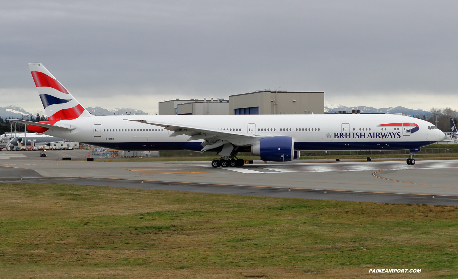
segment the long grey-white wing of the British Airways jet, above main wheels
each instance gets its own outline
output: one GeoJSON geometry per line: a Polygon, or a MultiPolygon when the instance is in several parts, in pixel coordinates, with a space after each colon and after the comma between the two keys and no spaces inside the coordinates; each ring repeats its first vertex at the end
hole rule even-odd
{"type": "Polygon", "coordinates": [[[174,131],[173,133],[169,135],[170,137],[187,135],[187,136],[190,136],[190,138],[188,138],[188,141],[204,139],[207,142],[204,143],[204,148],[202,149],[202,151],[205,151],[211,148],[217,148],[228,142],[233,143],[234,145],[243,146],[243,145],[250,144],[252,142],[256,142],[262,137],[271,137],[271,136],[259,136],[256,134],[245,133],[241,131],[228,131],[228,130],[220,130],[220,129],[193,126],[193,125],[183,125],[183,124],[166,123],[166,122],[149,121],[149,120],[131,120],[131,119],[124,119],[124,120],[135,121],[135,122],[164,127],[164,129],[167,129],[169,131],[174,131]]]}

